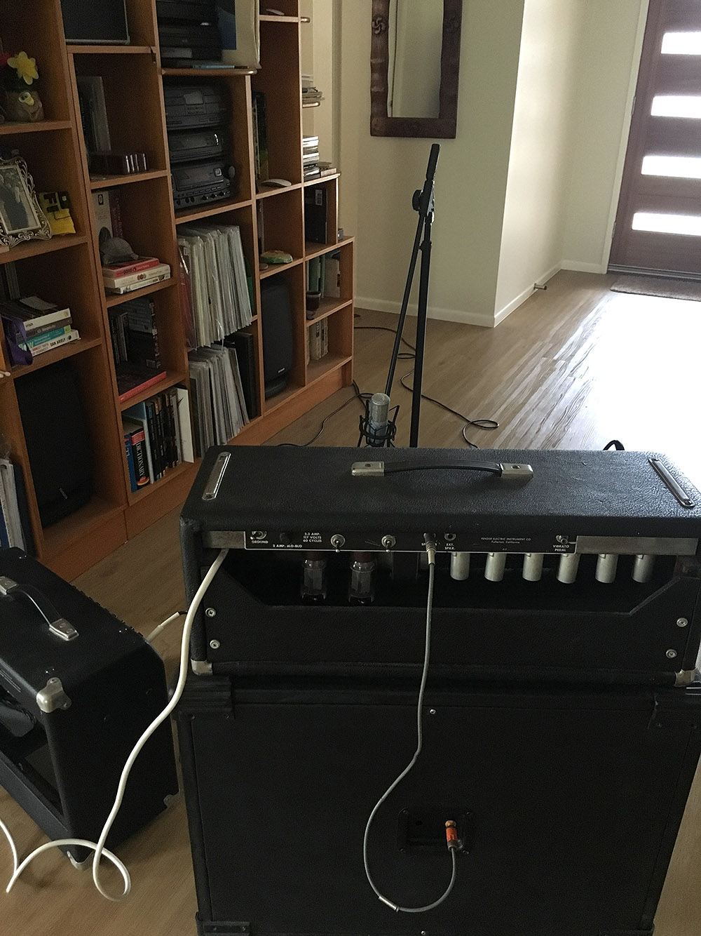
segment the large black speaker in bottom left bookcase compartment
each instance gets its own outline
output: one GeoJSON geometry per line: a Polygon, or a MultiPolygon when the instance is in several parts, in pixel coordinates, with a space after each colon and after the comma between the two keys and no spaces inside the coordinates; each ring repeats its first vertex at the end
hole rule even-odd
{"type": "Polygon", "coordinates": [[[42,526],[74,513],[93,493],[93,453],[69,361],[15,384],[42,526]]]}

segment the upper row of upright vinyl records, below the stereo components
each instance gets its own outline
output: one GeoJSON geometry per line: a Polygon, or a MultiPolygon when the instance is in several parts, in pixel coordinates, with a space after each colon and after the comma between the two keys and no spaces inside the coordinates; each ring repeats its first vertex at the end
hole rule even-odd
{"type": "Polygon", "coordinates": [[[194,347],[221,342],[253,320],[241,232],[236,225],[183,225],[178,235],[194,347]]]}

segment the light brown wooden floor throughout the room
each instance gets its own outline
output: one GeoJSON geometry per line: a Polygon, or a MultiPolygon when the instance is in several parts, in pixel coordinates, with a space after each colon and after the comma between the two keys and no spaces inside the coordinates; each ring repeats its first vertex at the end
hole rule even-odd
{"type": "MultiPolygon", "coordinates": [[[[480,447],[601,448],[618,438],[626,448],[662,451],[701,485],[698,372],[701,304],[608,291],[614,278],[561,272],[497,329],[428,323],[424,392],[470,418],[494,418],[499,428],[468,427],[480,447]]],[[[361,311],[356,325],[390,327],[396,317],[361,311]]],[[[413,320],[408,321],[411,341],[413,320]]],[[[357,330],[356,379],[384,389],[392,335],[357,330]]],[[[399,361],[397,378],[411,361],[399,361]]],[[[322,418],[350,399],[349,388],[270,440],[303,443],[322,418]]],[[[398,442],[408,443],[410,395],[395,383],[398,442]]],[[[355,445],[360,406],[350,402],[329,419],[318,445],[355,445]]],[[[464,422],[424,402],[422,446],[465,446],[464,422]]],[[[178,511],[109,556],[77,583],[144,633],[183,607],[178,511]]],[[[172,671],[179,630],[156,645],[172,671]]],[[[0,791],[0,818],[21,856],[44,841],[36,826],[0,791]]],[[[0,902],[0,932],[12,936],[191,936],[195,900],[185,813],[177,803],[127,842],[120,856],[133,877],[123,904],[93,890],[58,853],[40,856],[0,902]]],[[[0,840],[0,879],[10,857],[0,840]]],[[[701,932],[701,778],[697,776],[657,914],[656,936],[701,932]]],[[[115,891],[119,882],[114,879],[115,891]]],[[[418,930],[417,930],[418,931],[418,930]]],[[[543,933],[543,936],[558,936],[543,933]]]]}

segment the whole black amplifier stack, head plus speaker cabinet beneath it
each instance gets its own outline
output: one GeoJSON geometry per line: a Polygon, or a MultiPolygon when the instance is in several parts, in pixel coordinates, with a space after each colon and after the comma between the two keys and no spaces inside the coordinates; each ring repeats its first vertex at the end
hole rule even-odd
{"type": "Polygon", "coordinates": [[[354,477],[359,454],[210,449],[183,509],[191,595],[230,548],[177,715],[199,931],[649,936],[701,753],[701,495],[665,463],[694,503],[682,507],[651,453],[373,452],[425,469],[530,462],[533,479],[510,486],[454,467],[354,477]],[[425,532],[439,553],[423,751],[368,841],[379,889],[420,906],[448,885],[444,823],[457,822],[454,889],[415,915],[371,890],[363,836],[416,748],[426,572],[407,560],[425,532]],[[374,603],[350,606],[344,549],[380,559],[388,535],[404,561],[378,563],[374,603]],[[586,550],[614,538],[604,584],[586,550]],[[466,581],[448,573],[453,543],[473,552],[466,581]],[[563,584],[572,544],[579,576],[563,584]],[[508,552],[491,592],[479,545],[508,552]],[[631,585],[623,555],[643,546],[654,572],[631,585]],[[329,563],[314,606],[299,597],[309,549],[329,563]],[[546,562],[529,595],[532,549],[546,562]]]}

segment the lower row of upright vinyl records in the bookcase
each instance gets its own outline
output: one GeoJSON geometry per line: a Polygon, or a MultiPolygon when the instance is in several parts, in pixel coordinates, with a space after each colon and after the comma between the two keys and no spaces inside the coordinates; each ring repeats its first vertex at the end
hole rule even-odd
{"type": "Polygon", "coordinates": [[[246,423],[246,406],[236,347],[214,345],[191,351],[194,440],[198,456],[209,446],[223,446],[246,423]]]}

